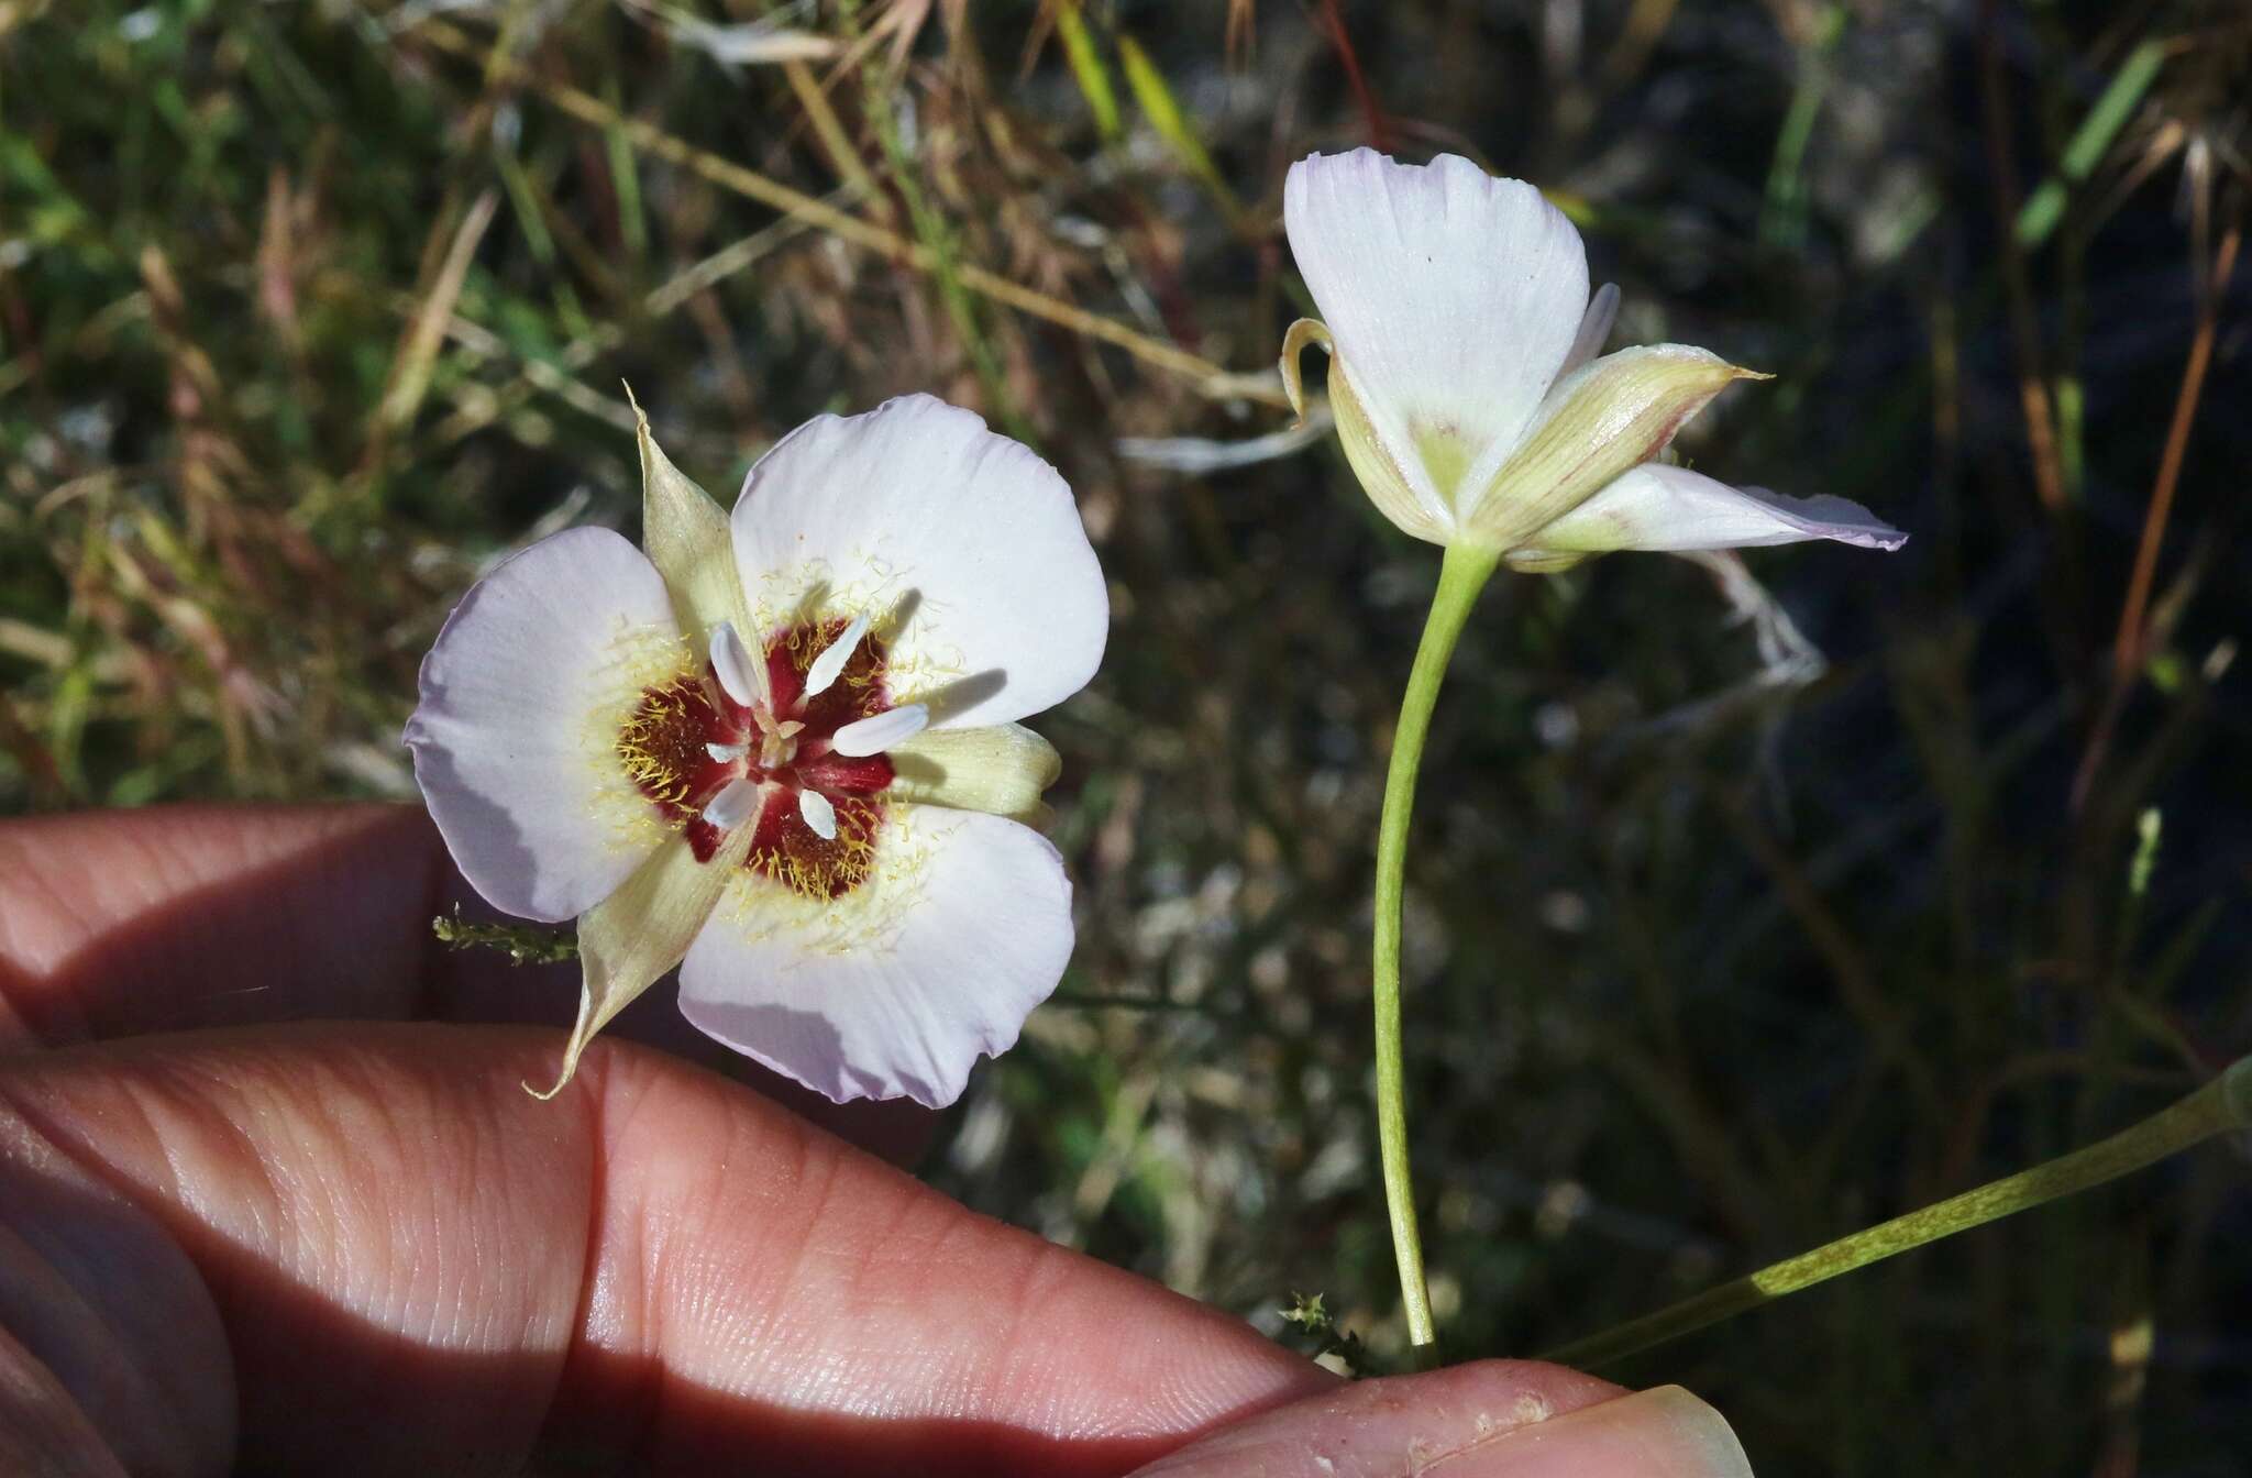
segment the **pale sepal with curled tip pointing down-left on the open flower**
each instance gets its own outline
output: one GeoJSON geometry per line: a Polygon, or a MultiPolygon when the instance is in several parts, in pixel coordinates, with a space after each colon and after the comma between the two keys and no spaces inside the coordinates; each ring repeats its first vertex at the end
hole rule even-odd
{"type": "Polygon", "coordinates": [[[563,1093],[595,1032],[610,1025],[658,976],[680,964],[718,906],[727,879],[750,854],[752,834],[754,827],[734,827],[709,861],[696,861],[694,847],[671,840],[651,852],[617,892],[579,915],[579,1021],[563,1045],[563,1070],[554,1086],[540,1093],[525,1084],[525,1093],[536,1099],[563,1093]]]}

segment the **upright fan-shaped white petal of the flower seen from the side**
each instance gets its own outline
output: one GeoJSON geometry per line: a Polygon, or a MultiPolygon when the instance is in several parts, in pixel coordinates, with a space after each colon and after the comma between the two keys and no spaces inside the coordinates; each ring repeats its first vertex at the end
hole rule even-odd
{"type": "Polygon", "coordinates": [[[1378,439],[1455,507],[1464,473],[1525,437],[1572,349],[1588,309],[1579,232],[1522,180],[1369,149],[1293,164],[1284,228],[1378,439]]]}

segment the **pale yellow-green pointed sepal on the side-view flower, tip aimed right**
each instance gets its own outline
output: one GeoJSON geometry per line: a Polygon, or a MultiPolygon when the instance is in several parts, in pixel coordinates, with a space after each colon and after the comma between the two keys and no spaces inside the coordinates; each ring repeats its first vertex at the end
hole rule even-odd
{"type": "Polygon", "coordinates": [[[1466,509],[1466,536],[1516,550],[1612,478],[1648,462],[1732,381],[1768,379],[1689,345],[1619,349],[1549,390],[1538,430],[1466,509]]]}

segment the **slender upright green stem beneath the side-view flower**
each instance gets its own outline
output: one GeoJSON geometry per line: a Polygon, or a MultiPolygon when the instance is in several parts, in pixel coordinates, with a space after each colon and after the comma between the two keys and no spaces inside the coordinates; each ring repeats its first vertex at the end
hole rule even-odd
{"type": "Polygon", "coordinates": [[[1376,1142],[1385,1163],[1385,1210],[1392,1217],[1392,1255],[1401,1268],[1401,1302],[1407,1309],[1407,1341],[1417,1363],[1432,1363],[1439,1336],[1430,1323],[1430,1291],[1423,1286],[1423,1237],[1414,1223],[1414,1178],[1407,1174],[1407,1084],[1401,1070],[1401,890],[1407,872],[1407,820],[1414,813],[1414,777],[1423,768],[1430,710],[1439,701],[1446,660],[1471,620],[1477,593],[1486,588],[1498,550],[1448,545],[1439,566],[1439,590],[1430,597],[1423,642],[1407,671],[1407,696],[1392,732],[1392,768],[1385,773],[1385,816],[1376,829],[1376,1142]]]}

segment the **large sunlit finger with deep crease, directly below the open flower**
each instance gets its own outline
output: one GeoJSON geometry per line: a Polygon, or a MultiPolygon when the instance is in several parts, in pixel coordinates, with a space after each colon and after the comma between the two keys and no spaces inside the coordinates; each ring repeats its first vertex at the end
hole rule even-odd
{"type": "MultiPolygon", "coordinates": [[[[1117,1473],[1331,1383],[676,1059],[599,1050],[536,1104],[547,1052],[392,1025],[34,1057],[0,1174],[54,1145],[185,1250],[248,1469],[1117,1473]]],[[[74,1286],[101,1309],[113,1273],[74,1286]]]]}

